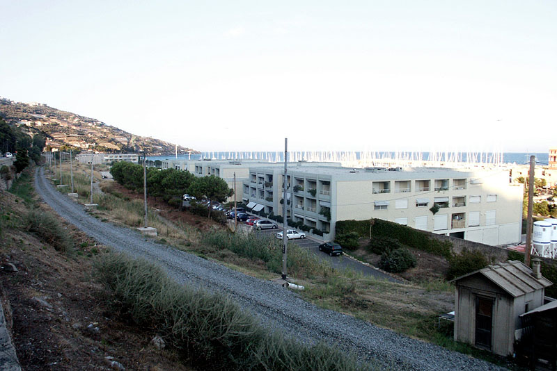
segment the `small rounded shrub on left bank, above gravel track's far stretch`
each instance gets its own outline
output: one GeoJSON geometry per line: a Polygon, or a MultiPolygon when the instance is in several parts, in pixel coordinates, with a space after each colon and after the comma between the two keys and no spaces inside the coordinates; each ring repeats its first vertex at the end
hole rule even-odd
{"type": "Polygon", "coordinates": [[[27,231],[35,234],[42,242],[46,242],[56,250],[66,251],[72,245],[72,236],[63,229],[56,217],[42,211],[29,211],[24,216],[24,225],[27,231]]]}

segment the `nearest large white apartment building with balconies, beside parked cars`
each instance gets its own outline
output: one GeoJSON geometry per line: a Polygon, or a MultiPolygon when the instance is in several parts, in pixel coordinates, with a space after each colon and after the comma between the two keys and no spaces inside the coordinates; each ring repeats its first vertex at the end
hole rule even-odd
{"type": "MultiPolygon", "coordinates": [[[[287,215],[329,232],[329,239],[338,220],[379,218],[487,245],[521,240],[523,190],[508,171],[311,164],[288,167],[287,215]]],[[[283,179],[277,167],[251,167],[243,201],[253,211],[283,215],[283,179]]]]}

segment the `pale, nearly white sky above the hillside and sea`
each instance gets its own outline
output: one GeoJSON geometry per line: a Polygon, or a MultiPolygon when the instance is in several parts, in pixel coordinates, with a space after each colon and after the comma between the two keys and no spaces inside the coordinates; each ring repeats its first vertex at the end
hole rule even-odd
{"type": "Polygon", "coordinates": [[[0,96],[200,151],[557,146],[557,1],[0,0],[0,96]]]}

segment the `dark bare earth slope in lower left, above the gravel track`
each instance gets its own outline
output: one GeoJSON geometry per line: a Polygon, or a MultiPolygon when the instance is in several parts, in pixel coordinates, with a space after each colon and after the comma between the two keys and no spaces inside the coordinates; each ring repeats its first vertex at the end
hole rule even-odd
{"type": "Polygon", "coordinates": [[[28,208],[0,192],[0,264],[18,270],[0,270],[1,300],[24,370],[113,370],[113,361],[125,370],[192,370],[172,350],[152,345],[156,329],[139,328],[113,311],[92,278],[93,258],[105,247],[64,223],[77,248],[56,251],[23,228],[28,208]]]}

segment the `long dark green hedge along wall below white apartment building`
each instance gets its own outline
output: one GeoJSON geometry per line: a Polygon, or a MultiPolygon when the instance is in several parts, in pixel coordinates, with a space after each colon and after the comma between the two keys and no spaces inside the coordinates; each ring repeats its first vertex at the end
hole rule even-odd
{"type": "Polygon", "coordinates": [[[387,220],[340,220],[336,222],[336,233],[356,232],[360,237],[396,238],[402,245],[450,258],[453,244],[432,238],[429,233],[387,220]]]}

